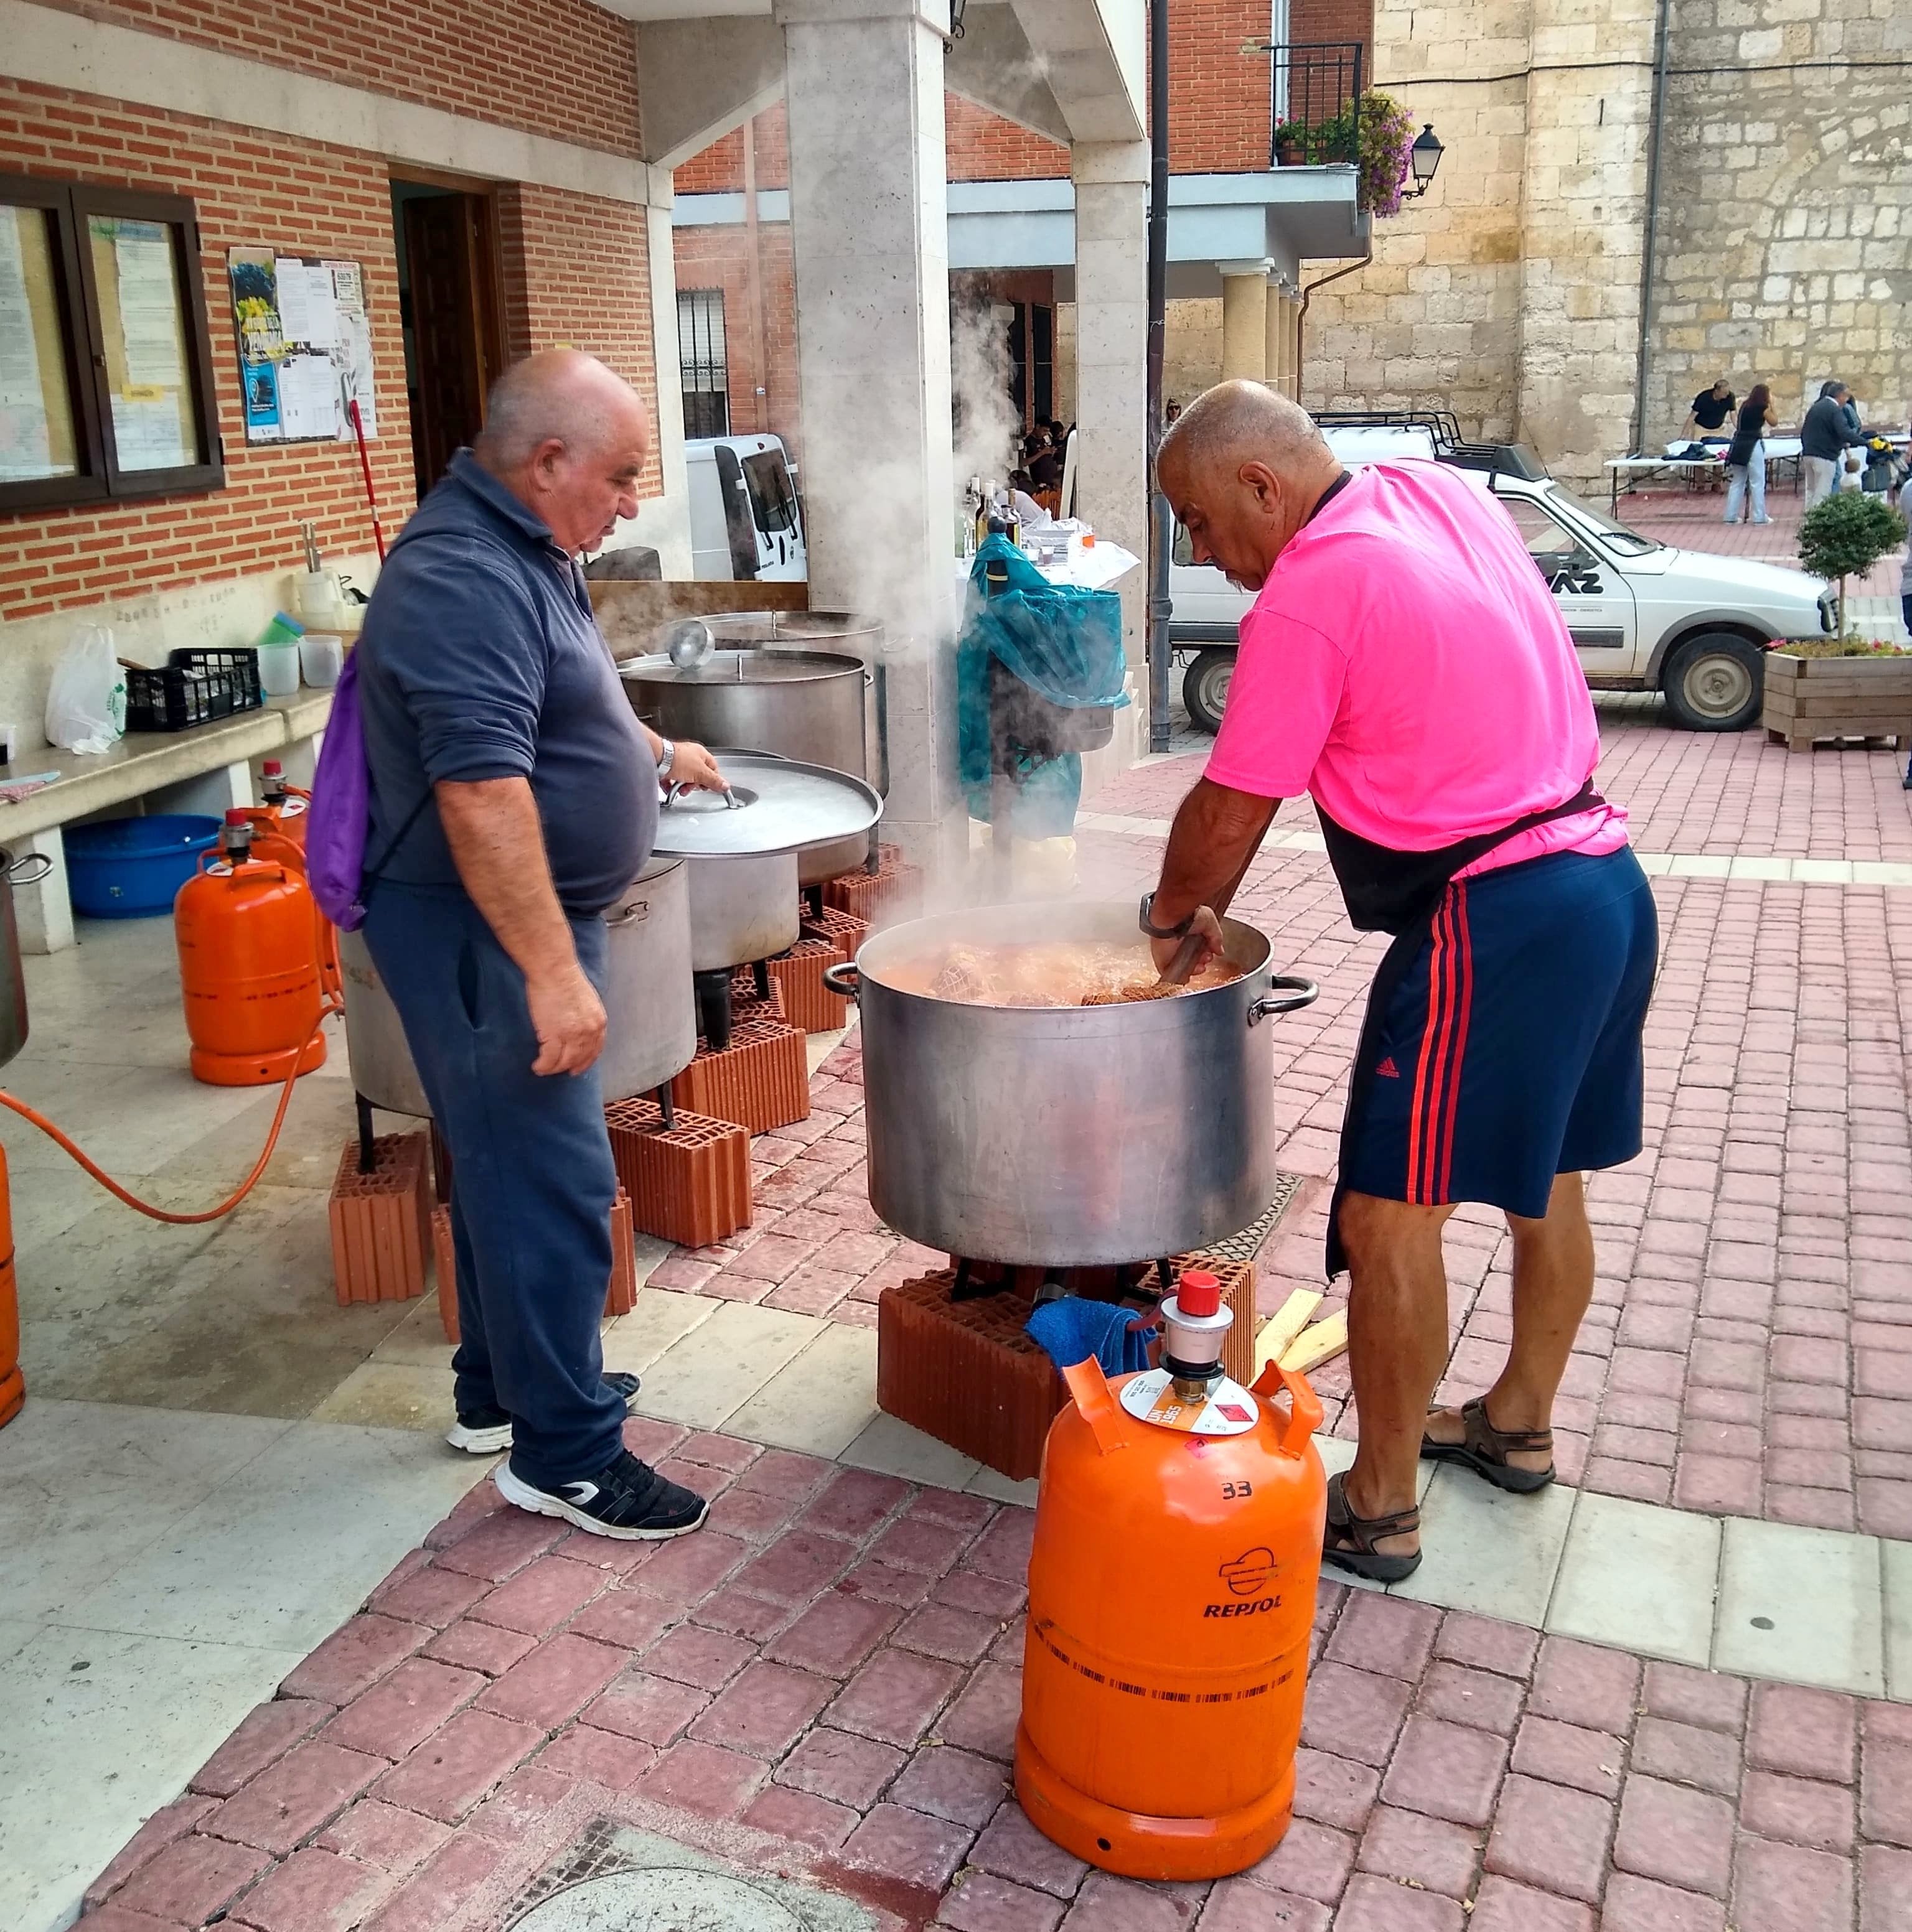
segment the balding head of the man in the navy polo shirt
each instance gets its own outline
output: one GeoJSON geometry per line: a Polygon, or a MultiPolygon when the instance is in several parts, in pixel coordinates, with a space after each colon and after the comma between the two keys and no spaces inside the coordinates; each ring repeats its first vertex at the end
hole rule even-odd
{"type": "Polygon", "coordinates": [[[539,350],[491,384],[472,454],[563,549],[590,551],[638,514],[650,415],[595,355],[539,350]]]}

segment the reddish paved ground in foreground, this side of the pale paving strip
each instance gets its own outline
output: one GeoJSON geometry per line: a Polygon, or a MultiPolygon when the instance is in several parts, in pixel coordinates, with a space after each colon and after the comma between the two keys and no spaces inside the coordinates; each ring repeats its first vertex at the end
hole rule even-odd
{"type": "Polygon", "coordinates": [[[495,1932],[611,1816],[961,1932],[1902,1932],[1912,1710],[1328,1584],[1297,1820],[1133,1886],[1007,1797],[1030,1513],[630,1424],[607,1546],[481,1484],[133,1839],[95,1932],[495,1932]]]}

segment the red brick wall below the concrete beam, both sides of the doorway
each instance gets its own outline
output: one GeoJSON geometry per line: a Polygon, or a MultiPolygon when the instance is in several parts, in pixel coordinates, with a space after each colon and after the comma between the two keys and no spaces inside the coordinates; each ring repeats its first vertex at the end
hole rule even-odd
{"type": "MultiPolygon", "coordinates": [[[[0,174],[50,174],[191,195],[226,487],[0,516],[0,620],[217,578],[298,568],[298,526],[327,554],[371,547],[350,444],[246,444],[226,249],[282,247],[363,263],[387,533],[412,510],[389,164],[379,155],[0,79],[0,174]]],[[[545,187],[503,191],[514,354],[574,342],[655,396],[644,211],[545,187]]],[[[655,462],[646,495],[655,495],[655,462]]]]}

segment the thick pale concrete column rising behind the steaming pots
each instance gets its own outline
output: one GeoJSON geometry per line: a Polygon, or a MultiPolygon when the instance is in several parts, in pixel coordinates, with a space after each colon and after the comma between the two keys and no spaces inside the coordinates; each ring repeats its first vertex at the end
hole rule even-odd
{"type": "Polygon", "coordinates": [[[949,216],[938,0],[775,0],[810,599],[887,630],[884,829],[967,856],[955,763],[949,216]]]}

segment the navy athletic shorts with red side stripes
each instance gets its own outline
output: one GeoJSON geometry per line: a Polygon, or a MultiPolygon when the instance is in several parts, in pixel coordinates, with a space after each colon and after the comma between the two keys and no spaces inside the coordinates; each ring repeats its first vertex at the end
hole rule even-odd
{"type": "Polygon", "coordinates": [[[1375,981],[1342,1188],[1539,1219],[1554,1177],[1639,1153],[1659,920],[1632,850],[1448,885],[1375,981]]]}

